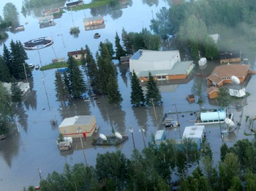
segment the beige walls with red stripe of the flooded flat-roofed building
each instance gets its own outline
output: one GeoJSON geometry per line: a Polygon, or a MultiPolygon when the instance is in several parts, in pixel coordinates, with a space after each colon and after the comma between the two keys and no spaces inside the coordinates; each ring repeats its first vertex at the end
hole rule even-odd
{"type": "Polygon", "coordinates": [[[81,136],[90,137],[94,133],[96,128],[96,119],[92,117],[92,120],[88,125],[70,125],[70,126],[60,126],[59,132],[63,134],[64,137],[79,138],[79,133],[77,128],[81,127],[81,136]]]}

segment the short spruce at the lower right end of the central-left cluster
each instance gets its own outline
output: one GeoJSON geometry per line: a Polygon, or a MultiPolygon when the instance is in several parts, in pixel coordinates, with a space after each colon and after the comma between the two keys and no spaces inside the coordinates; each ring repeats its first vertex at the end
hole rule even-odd
{"type": "Polygon", "coordinates": [[[120,104],[123,100],[115,76],[109,76],[109,81],[107,83],[107,98],[109,104],[120,104]]]}

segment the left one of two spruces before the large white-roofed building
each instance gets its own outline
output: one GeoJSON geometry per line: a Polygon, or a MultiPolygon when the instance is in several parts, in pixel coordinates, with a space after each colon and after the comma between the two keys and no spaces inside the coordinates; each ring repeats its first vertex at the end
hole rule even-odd
{"type": "Polygon", "coordinates": [[[139,83],[139,78],[137,78],[136,73],[134,70],[132,71],[132,81],[131,81],[131,104],[134,106],[141,106],[141,104],[144,104],[145,98],[143,94],[142,87],[139,83]]]}

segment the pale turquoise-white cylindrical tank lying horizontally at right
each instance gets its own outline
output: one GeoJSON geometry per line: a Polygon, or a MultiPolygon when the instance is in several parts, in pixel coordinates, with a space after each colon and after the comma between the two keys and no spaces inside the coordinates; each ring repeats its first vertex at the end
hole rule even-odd
{"type": "Polygon", "coordinates": [[[200,119],[202,122],[224,121],[225,118],[226,118],[225,110],[217,110],[217,111],[200,113],[200,119]]]}

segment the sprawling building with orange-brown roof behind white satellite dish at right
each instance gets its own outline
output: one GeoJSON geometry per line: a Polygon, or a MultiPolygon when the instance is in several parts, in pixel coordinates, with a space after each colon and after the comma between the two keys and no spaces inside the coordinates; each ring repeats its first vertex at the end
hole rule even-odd
{"type": "Polygon", "coordinates": [[[222,65],[216,66],[208,76],[208,85],[221,86],[225,83],[231,83],[231,76],[236,76],[241,82],[246,79],[250,73],[249,65],[222,65]]]}

